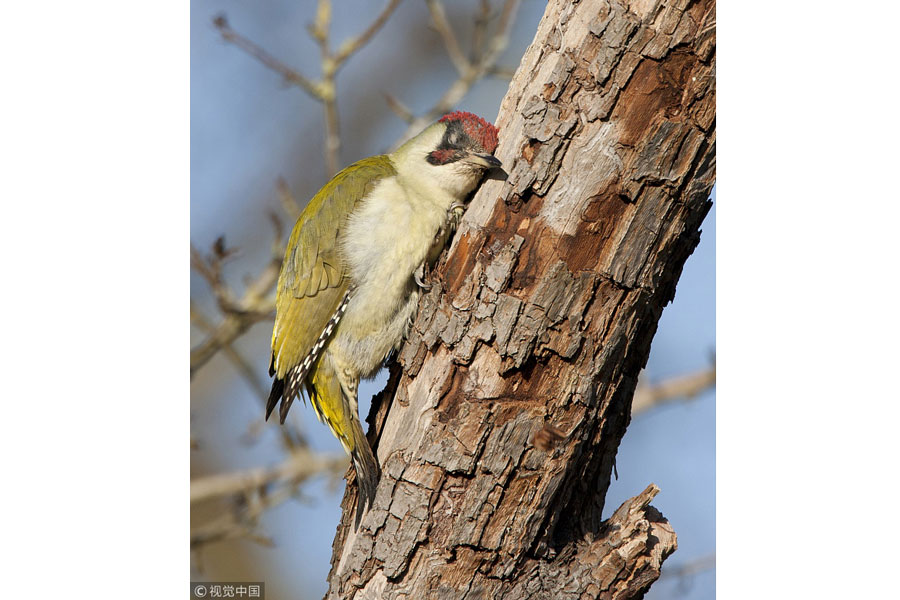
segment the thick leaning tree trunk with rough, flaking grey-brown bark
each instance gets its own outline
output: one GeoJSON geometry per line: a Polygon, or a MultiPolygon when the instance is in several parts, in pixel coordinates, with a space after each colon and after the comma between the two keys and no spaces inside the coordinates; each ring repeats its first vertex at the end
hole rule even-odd
{"type": "Polygon", "coordinates": [[[501,105],[507,181],[432,276],[348,486],[327,598],[632,598],[675,533],[601,511],[715,171],[714,0],[552,1],[501,105]]]}

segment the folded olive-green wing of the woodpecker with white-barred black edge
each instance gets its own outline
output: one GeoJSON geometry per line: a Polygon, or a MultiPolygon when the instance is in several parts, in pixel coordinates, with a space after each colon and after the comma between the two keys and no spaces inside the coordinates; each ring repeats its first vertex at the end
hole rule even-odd
{"type": "Polygon", "coordinates": [[[340,230],[356,203],[394,174],[387,156],[347,167],[313,196],[294,225],[278,277],[269,368],[276,386],[287,384],[285,399],[293,399],[306,377],[300,370],[308,371],[341,315],[349,281],[338,247],[340,230]],[[304,363],[307,368],[298,370],[304,363]],[[289,381],[284,381],[289,374],[289,381]]]}

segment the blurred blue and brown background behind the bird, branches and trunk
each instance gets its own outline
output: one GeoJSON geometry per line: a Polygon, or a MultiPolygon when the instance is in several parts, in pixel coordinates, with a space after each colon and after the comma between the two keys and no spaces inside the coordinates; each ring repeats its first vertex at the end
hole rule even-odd
{"type": "MultiPolygon", "coordinates": [[[[366,30],[386,5],[386,0],[335,0],[329,29],[332,50],[366,30]]],[[[476,23],[484,22],[486,7],[490,19],[481,45],[490,48],[496,41],[492,35],[501,26],[505,6],[502,0],[446,3],[447,23],[465,55],[478,37],[476,23]]],[[[537,0],[518,3],[509,15],[508,44],[494,67],[453,108],[495,120],[509,74],[530,44],[545,6],[537,0]]],[[[338,72],[338,168],[387,151],[408,127],[401,114],[428,113],[458,80],[429,8],[423,0],[400,2],[338,72]],[[394,108],[388,96],[396,100],[394,108]]],[[[316,11],[313,0],[191,2],[191,243],[209,254],[224,236],[225,246],[234,253],[222,274],[238,296],[271,259],[269,213],[279,216],[284,235],[293,225],[279,195],[279,178],[301,206],[329,178],[323,153],[325,120],[321,102],[265,66],[259,54],[252,55],[252,47],[244,44],[242,49],[241,41],[223,39],[223,30],[213,21],[226,15],[225,31],[317,81],[320,47],[308,32],[316,11]]],[[[662,489],[653,504],[678,534],[678,550],[666,561],[650,599],[715,597],[715,387],[691,386],[710,372],[714,381],[715,235],[714,204],[675,301],[660,322],[642,382],[646,403],[638,410],[636,401],[619,449],[618,479],[606,500],[609,515],[650,482],[662,489]],[[650,393],[673,381],[676,393],[661,400],[650,393]],[[683,389],[679,384],[685,384],[683,389]]],[[[216,297],[196,270],[191,271],[191,317],[191,343],[196,347],[208,327],[221,320],[216,297]]],[[[276,423],[262,422],[270,334],[271,321],[259,322],[228,352],[218,352],[193,374],[192,480],[277,467],[286,459],[288,443],[341,457],[340,444],[302,403],[290,413],[290,437],[276,423]]],[[[385,380],[382,373],[361,387],[363,418],[369,399],[385,380]]],[[[340,518],[343,473],[342,467],[327,468],[300,485],[267,488],[266,494],[192,501],[191,578],[265,581],[270,600],[321,598],[340,518]],[[247,519],[235,518],[248,514],[254,515],[249,526],[247,519]]]]}

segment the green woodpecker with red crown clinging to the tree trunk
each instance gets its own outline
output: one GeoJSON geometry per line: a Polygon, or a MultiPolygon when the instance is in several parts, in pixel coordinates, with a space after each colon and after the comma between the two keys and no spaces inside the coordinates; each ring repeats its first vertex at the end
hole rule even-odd
{"type": "Polygon", "coordinates": [[[294,225],[278,277],[266,418],[281,422],[305,388],[350,455],[355,526],[379,468],[360,424],[357,387],[397,350],[415,317],[422,274],[494,158],[497,128],[454,112],[397,151],[363,159],[313,196],[294,225]]]}

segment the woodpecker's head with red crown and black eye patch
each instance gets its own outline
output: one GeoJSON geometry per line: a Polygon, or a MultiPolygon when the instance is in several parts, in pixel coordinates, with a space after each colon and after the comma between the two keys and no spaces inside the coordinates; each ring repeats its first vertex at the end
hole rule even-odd
{"type": "Polygon", "coordinates": [[[427,177],[463,199],[485,172],[502,167],[494,157],[497,133],[496,127],[472,113],[444,115],[397,151],[403,163],[400,170],[427,177]]]}

